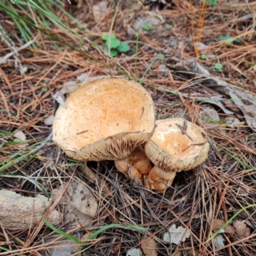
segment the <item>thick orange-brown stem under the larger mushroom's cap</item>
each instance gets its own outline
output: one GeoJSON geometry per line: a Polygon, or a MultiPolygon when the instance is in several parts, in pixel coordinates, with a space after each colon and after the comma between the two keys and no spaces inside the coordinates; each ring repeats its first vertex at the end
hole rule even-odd
{"type": "Polygon", "coordinates": [[[143,175],[148,175],[152,166],[145,154],[143,147],[139,146],[129,157],[115,160],[116,169],[125,173],[130,179],[143,180],[143,175]]]}

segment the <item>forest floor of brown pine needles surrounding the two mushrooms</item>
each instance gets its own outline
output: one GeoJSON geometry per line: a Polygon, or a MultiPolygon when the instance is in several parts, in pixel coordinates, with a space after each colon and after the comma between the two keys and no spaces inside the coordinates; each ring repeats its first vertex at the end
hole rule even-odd
{"type": "Polygon", "coordinates": [[[38,210],[48,216],[65,212],[53,191],[81,182],[97,211],[84,213],[86,225],[78,217],[70,225],[66,212],[56,225],[40,218],[24,226],[35,205],[21,218],[18,204],[10,199],[4,208],[0,200],[0,255],[65,255],[60,248],[67,248],[67,255],[90,256],[255,256],[256,1],[77,0],[62,7],[52,10],[67,27],[49,19],[46,28],[35,10],[19,10],[36,20],[28,41],[0,9],[0,189],[51,195],[46,213],[38,210]],[[104,34],[129,50],[111,52],[104,34]],[[177,173],[164,195],[127,179],[113,161],[85,168],[51,140],[54,93],[67,97],[74,84],[112,76],[140,82],[157,120],[184,118],[212,141],[205,163],[177,173]],[[70,252],[74,237],[82,243],[70,252]]]}

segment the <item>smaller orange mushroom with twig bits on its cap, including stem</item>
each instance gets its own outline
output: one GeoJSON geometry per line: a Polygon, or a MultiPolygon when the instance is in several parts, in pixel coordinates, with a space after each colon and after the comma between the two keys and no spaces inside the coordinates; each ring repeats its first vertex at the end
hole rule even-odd
{"type": "Polygon", "coordinates": [[[176,172],[195,168],[207,159],[210,145],[202,128],[182,118],[157,120],[156,125],[145,144],[145,153],[155,164],[145,185],[163,193],[176,172]]]}

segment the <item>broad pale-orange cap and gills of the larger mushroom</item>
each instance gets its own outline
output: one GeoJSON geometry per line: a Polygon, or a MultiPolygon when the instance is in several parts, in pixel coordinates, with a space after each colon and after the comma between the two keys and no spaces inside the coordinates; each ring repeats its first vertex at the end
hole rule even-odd
{"type": "Polygon", "coordinates": [[[77,160],[128,157],[154,131],[154,102],[134,81],[104,78],[83,84],[65,105],[56,111],[53,141],[77,160]]]}

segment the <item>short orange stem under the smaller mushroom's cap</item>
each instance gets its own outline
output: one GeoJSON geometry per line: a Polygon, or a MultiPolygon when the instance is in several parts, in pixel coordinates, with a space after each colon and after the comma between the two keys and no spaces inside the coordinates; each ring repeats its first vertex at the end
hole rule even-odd
{"type": "Polygon", "coordinates": [[[176,172],[164,172],[156,165],[148,173],[148,179],[145,182],[147,189],[154,189],[158,193],[164,193],[164,190],[172,185],[176,172]]]}

